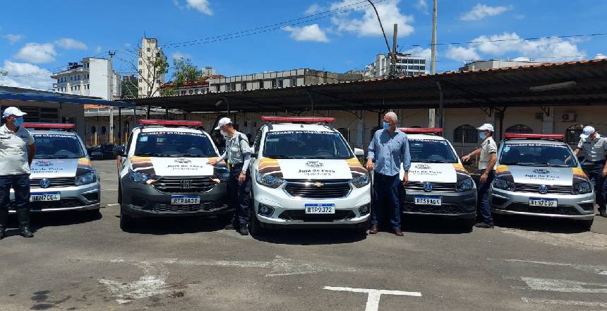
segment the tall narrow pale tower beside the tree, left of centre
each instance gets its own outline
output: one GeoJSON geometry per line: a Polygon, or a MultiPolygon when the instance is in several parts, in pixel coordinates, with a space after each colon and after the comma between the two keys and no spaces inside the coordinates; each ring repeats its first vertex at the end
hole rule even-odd
{"type": "Polygon", "coordinates": [[[164,83],[164,74],[160,74],[154,64],[157,59],[164,58],[162,49],[158,47],[158,40],[152,37],[143,37],[138,57],[138,89],[140,98],[160,96],[160,86],[164,83]]]}

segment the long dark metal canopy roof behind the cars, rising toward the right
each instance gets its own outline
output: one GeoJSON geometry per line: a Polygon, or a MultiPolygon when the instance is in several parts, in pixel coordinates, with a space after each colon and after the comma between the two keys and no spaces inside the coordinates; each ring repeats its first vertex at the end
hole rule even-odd
{"type": "Polygon", "coordinates": [[[607,59],[134,100],[186,112],[607,105],[607,59]],[[223,101],[223,102],[221,102],[223,101]]]}

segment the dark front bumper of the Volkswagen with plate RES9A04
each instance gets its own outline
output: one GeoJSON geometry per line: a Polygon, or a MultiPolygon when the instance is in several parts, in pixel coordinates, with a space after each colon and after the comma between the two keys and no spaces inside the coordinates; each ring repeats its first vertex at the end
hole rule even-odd
{"type": "Polygon", "coordinates": [[[467,192],[420,192],[404,191],[401,188],[400,197],[400,209],[403,214],[464,219],[476,217],[476,188],[467,192]],[[442,205],[418,205],[415,204],[415,196],[440,196],[442,205]]]}

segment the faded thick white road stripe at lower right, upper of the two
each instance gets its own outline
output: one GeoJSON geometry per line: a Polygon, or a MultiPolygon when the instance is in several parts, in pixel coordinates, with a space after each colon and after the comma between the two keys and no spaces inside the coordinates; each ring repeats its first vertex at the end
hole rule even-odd
{"type": "Polygon", "coordinates": [[[607,284],[584,283],[579,281],[559,280],[556,278],[527,278],[522,277],[521,281],[527,283],[531,291],[555,291],[560,293],[605,293],[607,294],[607,284]]]}

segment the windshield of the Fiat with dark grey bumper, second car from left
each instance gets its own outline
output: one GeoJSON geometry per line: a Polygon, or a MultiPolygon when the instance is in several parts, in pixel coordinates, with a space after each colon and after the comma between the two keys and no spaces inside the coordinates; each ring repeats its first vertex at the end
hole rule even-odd
{"type": "Polygon", "coordinates": [[[202,133],[144,132],[137,136],[135,155],[155,157],[215,157],[212,142],[202,133]]]}

